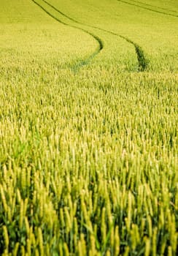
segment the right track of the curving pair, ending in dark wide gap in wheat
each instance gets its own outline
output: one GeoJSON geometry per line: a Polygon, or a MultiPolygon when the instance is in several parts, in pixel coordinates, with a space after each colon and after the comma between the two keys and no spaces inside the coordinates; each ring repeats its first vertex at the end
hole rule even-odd
{"type": "Polygon", "coordinates": [[[139,63],[139,70],[138,71],[144,71],[145,69],[147,69],[149,61],[144,56],[144,50],[142,50],[142,48],[138,44],[136,44],[136,42],[133,42],[128,37],[124,37],[123,35],[120,35],[120,34],[117,34],[115,32],[109,31],[107,29],[101,29],[101,28],[98,28],[97,26],[90,26],[90,25],[85,24],[85,23],[80,23],[78,20],[75,20],[74,18],[71,18],[68,15],[66,15],[65,13],[58,10],[56,7],[53,6],[53,4],[50,4],[48,1],[46,1],[46,0],[42,0],[42,1],[44,1],[44,3],[47,4],[48,6],[50,6],[51,8],[53,8],[53,10],[55,10],[56,12],[63,15],[63,17],[68,18],[69,20],[73,21],[74,23],[80,24],[82,26],[88,26],[92,29],[98,29],[100,31],[107,32],[109,34],[112,34],[114,36],[117,36],[117,37],[120,37],[120,38],[124,39],[128,43],[131,43],[131,45],[133,45],[133,47],[135,48],[135,51],[136,51],[136,56],[137,56],[137,60],[138,60],[138,63],[139,63]]]}

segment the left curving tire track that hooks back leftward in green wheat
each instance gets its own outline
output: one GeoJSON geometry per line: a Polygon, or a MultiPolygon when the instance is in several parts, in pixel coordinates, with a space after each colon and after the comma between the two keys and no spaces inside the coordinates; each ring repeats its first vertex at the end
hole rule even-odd
{"type": "MultiPolygon", "coordinates": [[[[86,34],[89,34],[91,37],[93,37],[97,42],[98,42],[98,48],[96,48],[96,50],[90,55],[88,56],[88,58],[83,59],[82,61],[78,61],[77,64],[74,65],[73,69],[74,71],[77,71],[78,69],[80,69],[83,66],[86,66],[89,64],[89,62],[96,56],[98,55],[98,53],[101,52],[101,50],[104,48],[104,42],[102,41],[101,38],[99,38],[98,36],[96,36],[93,33],[90,33],[89,31],[85,30],[85,29],[81,29],[77,26],[74,25],[69,25],[68,23],[63,22],[62,20],[56,18],[54,15],[52,15],[50,12],[48,12],[44,7],[42,7],[41,4],[39,4],[38,2],[36,2],[35,0],[31,0],[34,2],[34,4],[36,4],[40,9],[42,9],[44,12],[47,13],[47,15],[49,15],[51,18],[53,18],[54,20],[58,21],[59,23],[65,25],[65,26],[69,26],[71,28],[74,29],[79,29],[80,31],[85,32],[86,34]]],[[[44,1],[44,3],[48,4],[46,1],[44,1]]],[[[50,4],[48,4],[50,6],[50,4]]],[[[53,8],[54,9],[54,8],[53,8]]]]}

